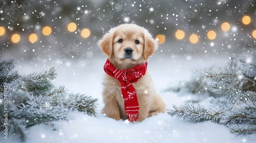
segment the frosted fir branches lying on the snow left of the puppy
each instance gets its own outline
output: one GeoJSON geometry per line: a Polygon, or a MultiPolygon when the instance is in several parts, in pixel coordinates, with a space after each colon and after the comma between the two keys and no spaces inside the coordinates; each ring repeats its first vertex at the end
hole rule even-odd
{"type": "MultiPolygon", "coordinates": [[[[26,128],[70,120],[70,112],[74,109],[96,116],[97,99],[85,94],[69,94],[65,86],[55,88],[51,83],[57,76],[54,67],[42,73],[20,76],[17,71],[12,71],[15,67],[13,60],[0,60],[0,65],[0,78],[8,79],[0,80],[0,85],[5,85],[3,89],[8,92],[8,97],[0,92],[0,100],[8,98],[13,101],[8,104],[9,132],[19,135],[21,140],[25,140],[26,128]]],[[[0,131],[5,128],[4,111],[7,108],[3,107],[0,107],[0,131]]]]}

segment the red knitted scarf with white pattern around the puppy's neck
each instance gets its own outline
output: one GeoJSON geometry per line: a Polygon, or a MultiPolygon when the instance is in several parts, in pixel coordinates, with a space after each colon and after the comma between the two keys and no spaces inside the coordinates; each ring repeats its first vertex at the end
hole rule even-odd
{"type": "Polygon", "coordinates": [[[121,84],[121,91],[124,100],[124,109],[128,120],[134,122],[139,117],[139,103],[137,93],[132,83],[137,82],[145,75],[147,62],[141,65],[136,65],[131,69],[121,70],[116,69],[110,60],[106,60],[104,71],[106,74],[117,79],[121,84]]]}

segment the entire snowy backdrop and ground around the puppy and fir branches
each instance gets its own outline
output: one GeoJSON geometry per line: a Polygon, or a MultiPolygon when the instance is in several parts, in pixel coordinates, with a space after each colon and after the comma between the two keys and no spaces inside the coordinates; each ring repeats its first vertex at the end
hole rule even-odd
{"type": "MultiPolygon", "coordinates": [[[[0,29],[1,59],[13,58],[19,74],[55,66],[56,86],[65,85],[70,92],[98,98],[97,117],[74,112],[71,121],[36,125],[27,130],[26,142],[254,142],[255,134],[237,137],[225,126],[190,123],[167,113],[137,124],[107,118],[100,113],[106,56],[97,41],[121,23],[137,23],[154,37],[163,35],[165,41],[150,58],[148,70],[167,108],[172,109],[198,97],[165,89],[184,84],[205,68],[224,66],[231,54],[255,49],[255,14],[252,0],[0,1],[0,27],[4,29],[0,29]],[[242,22],[245,15],[251,19],[248,25],[242,22]],[[68,29],[71,22],[76,25],[74,31],[68,29]],[[226,32],[221,28],[224,22],[230,25],[226,32]],[[46,26],[51,28],[49,35],[42,33],[46,26]],[[90,31],[89,37],[81,36],[83,29],[90,31]],[[185,33],[181,40],[175,36],[177,30],[185,33]],[[212,40],[207,36],[210,30],[217,35],[212,40]],[[37,39],[31,42],[33,33],[37,39]],[[13,34],[20,36],[16,43],[13,34]],[[199,38],[194,44],[189,40],[192,34],[199,38]]],[[[205,106],[214,106],[206,97],[200,98],[205,106]]],[[[20,141],[15,135],[0,137],[1,142],[20,141]]]]}

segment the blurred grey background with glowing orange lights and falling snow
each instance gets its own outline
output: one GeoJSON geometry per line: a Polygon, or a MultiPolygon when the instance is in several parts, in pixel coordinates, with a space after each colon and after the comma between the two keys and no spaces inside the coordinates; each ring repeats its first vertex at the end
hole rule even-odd
{"type": "MultiPolygon", "coordinates": [[[[0,56],[50,67],[80,67],[101,57],[97,41],[122,23],[142,26],[160,43],[153,55],[230,56],[255,49],[253,0],[0,1],[0,56]]],[[[103,57],[103,56],[102,56],[103,57]]]]}

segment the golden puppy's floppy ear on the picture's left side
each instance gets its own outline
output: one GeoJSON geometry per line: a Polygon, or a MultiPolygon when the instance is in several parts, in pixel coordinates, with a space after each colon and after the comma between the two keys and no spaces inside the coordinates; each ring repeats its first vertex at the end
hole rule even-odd
{"type": "Polygon", "coordinates": [[[103,54],[108,55],[109,59],[113,55],[113,38],[114,31],[110,30],[109,33],[106,33],[101,40],[99,40],[98,45],[103,54]]]}

